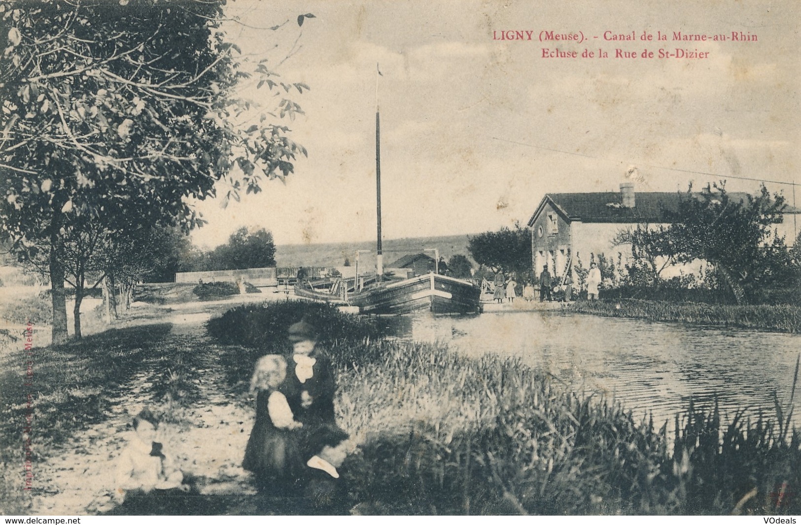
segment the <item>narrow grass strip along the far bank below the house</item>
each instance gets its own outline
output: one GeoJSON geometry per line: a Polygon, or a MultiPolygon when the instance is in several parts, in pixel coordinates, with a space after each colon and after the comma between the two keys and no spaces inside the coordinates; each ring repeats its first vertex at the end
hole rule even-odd
{"type": "Polygon", "coordinates": [[[648,321],[683,322],[692,325],[801,332],[801,307],[794,305],[709,305],[624,299],[577,301],[566,306],[574,313],[607,317],[632,317],[648,321]]]}

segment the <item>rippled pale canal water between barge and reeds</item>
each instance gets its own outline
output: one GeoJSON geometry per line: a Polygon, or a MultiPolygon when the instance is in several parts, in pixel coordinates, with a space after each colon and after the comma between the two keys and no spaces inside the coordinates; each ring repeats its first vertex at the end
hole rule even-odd
{"type": "MultiPolygon", "coordinates": [[[[738,410],[775,419],[774,392],[787,414],[801,334],[718,329],[562,312],[396,317],[398,337],[441,341],[461,353],[519,357],[575,391],[621,402],[661,426],[695,406],[723,421],[738,410]]],[[[795,426],[801,426],[801,387],[795,426]]]]}

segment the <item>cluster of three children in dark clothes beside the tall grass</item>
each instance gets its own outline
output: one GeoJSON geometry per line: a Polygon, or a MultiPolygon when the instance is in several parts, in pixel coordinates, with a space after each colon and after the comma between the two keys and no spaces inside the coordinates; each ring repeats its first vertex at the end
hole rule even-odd
{"type": "Polygon", "coordinates": [[[267,355],[256,362],[256,422],[242,466],[265,494],[335,499],[348,434],[334,419],[331,361],[317,349],[308,322],[290,326],[289,340],[289,360],[267,355]]]}

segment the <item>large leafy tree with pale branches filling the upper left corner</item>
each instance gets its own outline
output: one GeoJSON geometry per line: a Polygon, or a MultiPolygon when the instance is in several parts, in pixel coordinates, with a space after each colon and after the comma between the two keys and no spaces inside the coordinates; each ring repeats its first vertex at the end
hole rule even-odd
{"type": "Polygon", "coordinates": [[[0,5],[0,240],[20,260],[48,257],[54,342],[66,339],[66,239],[96,224],[104,240],[132,225],[188,230],[202,220],[187,197],[214,196],[224,180],[224,201],[238,200],[306,154],[269,115],[294,118],[302,111],[283,94],[308,87],[276,82],[266,60],[245,71],[219,30],[223,4],[0,5]],[[255,108],[235,86],[252,75],[282,96],[245,129],[255,108]]]}

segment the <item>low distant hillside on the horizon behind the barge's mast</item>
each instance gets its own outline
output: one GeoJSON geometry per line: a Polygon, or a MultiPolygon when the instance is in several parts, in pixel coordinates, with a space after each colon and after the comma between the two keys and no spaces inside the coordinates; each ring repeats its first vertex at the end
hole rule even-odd
{"type": "MultiPolygon", "coordinates": [[[[473,234],[470,234],[473,235],[473,234]]],[[[449,235],[441,237],[413,237],[408,239],[386,239],[382,244],[384,266],[391,265],[409,253],[420,252],[422,248],[437,248],[440,256],[449,260],[455,254],[467,256],[468,235],[449,235]]],[[[276,265],[278,266],[342,266],[347,258],[356,263],[356,250],[368,250],[360,254],[360,264],[375,266],[376,241],[338,242],[320,244],[279,244],[276,246],[276,265]]],[[[433,252],[427,252],[433,256],[433,252]]]]}

